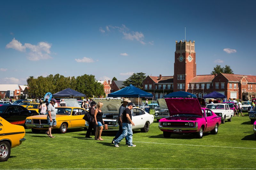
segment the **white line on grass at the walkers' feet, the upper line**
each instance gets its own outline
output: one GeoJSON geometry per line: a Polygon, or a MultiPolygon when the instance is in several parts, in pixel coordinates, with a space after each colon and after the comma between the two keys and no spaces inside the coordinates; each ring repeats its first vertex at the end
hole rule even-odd
{"type": "MultiPolygon", "coordinates": [[[[38,135],[38,136],[46,136],[47,137],[47,135],[41,135],[41,134],[26,133],[26,135],[38,135]]],[[[55,137],[66,137],[66,136],[55,136],[55,137]]],[[[69,137],[69,138],[72,138],[72,137],[69,137]]],[[[94,139],[92,138],[91,140],[94,140],[94,139]]],[[[109,140],[109,139],[104,139],[104,140],[109,140]]],[[[144,144],[166,144],[166,143],[156,143],[156,142],[138,142],[138,141],[133,141],[133,142],[134,143],[144,143],[144,144]]],[[[244,147],[232,147],[232,146],[196,145],[196,144],[166,144],[166,145],[200,146],[200,147],[216,147],[216,148],[235,148],[235,149],[256,149],[256,148],[244,148],[244,147]]]]}

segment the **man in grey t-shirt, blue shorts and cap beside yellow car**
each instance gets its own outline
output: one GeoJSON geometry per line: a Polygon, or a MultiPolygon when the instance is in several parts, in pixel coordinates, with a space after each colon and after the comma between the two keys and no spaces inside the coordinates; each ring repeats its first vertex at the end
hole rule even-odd
{"type": "Polygon", "coordinates": [[[50,104],[47,106],[47,110],[48,110],[47,122],[48,122],[49,128],[45,132],[45,134],[51,138],[54,138],[54,136],[52,136],[52,128],[55,128],[57,125],[56,112],[55,112],[55,107],[54,107],[55,103],[56,103],[56,100],[52,99],[50,104]]]}

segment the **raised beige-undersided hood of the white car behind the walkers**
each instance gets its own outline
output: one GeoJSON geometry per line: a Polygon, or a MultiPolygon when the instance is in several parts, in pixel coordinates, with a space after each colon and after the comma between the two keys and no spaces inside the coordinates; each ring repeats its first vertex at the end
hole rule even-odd
{"type": "Polygon", "coordinates": [[[96,103],[98,102],[102,102],[103,106],[101,108],[101,111],[103,114],[107,114],[107,113],[115,113],[118,114],[119,113],[119,107],[122,105],[122,99],[118,99],[118,98],[97,98],[97,99],[92,99],[93,101],[95,101],[96,103]]]}

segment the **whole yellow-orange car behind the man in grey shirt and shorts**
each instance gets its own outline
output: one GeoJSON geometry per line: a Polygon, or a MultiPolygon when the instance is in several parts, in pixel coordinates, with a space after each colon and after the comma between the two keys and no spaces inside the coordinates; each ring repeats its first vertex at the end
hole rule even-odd
{"type": "MultiPolygon", "coordinates": [[[[67,129],[85,128],[84,114],[87,112],[81,107],[55,107],[57,125],[54,129],[59,129],[60,133],[66,133],[67,129]]],[[[31,128],[32,132],[38,133],[40,130],[47,130],[46,115],[29,116],[25,125],[31,128]]]]}

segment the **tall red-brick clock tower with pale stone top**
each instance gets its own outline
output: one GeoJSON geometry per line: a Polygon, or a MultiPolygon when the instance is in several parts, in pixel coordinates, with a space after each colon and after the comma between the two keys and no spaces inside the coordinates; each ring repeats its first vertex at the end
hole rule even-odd
{"type": "Polygon", "coordinates": [[[195,41],[176,41],[173,92],[187,92],[189,82],[196,77],[195,41]]]}

